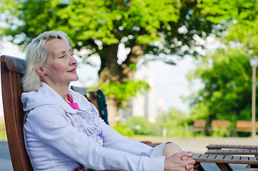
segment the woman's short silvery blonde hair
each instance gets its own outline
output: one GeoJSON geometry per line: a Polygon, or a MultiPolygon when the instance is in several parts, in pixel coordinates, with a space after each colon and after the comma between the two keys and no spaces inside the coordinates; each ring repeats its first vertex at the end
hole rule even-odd
{"type": "Polygon", "coordinates": [[[48,54],[48,51],[43,46],[47,41],[56,38],[68,43],[68,36],[63,31],[46,31],[33,38],[31,43],[25,48],[26,71],[22,80],[24,92],[38,90],[40,88],[41,78],[36,72],[36,68],[43,66],[48,54]]]}

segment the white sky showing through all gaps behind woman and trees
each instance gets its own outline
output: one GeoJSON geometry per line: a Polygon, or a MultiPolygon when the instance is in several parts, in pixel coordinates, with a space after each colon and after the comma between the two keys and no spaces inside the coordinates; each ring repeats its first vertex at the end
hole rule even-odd
{"type": "MultiPolygon", "coordinates": [[[[123,53],[127,53],[127,50],[123,49],[123,47],[121,49],[120,53],[122,55],[120,56],[122,57],[120,58],[123,58],[123,53]]],[[[9,42],[1,43],[0,54],[25,58],[25,54],[21,52],[19,46],[15,46],[9,42]]],[[[80,79],[77,82],[72,82],[71,85],[88,87],[93,85],[93,83],[96,83],[100,59],[98,57],[92,57],[90,60],[96,64],[96,67],[80,63],[80,59],[78,59],[78,76],[80,79]]],[[[152,61],[149,62],[147,66],[138,68],[136,76],[153,78],[154,115],[158,115],[160,97],[163,98],[162,105],[165,112],[172,107],[181,110],[182,112],[189,113],[189,104],[183,103],[180,97],[190,95],[191,90],[198,90],[201,87],[201,83],[198,81],[194,86],[190,87],[190,84],[185,78],[187,73],[195,68],[195,62],[191,56],[176,60],[176,63],[177,65],[172,66],[162,63],[161,61],[152,61]]],[[[0,92],[0,115],[3,115],[1,100],[0,92]]]]}

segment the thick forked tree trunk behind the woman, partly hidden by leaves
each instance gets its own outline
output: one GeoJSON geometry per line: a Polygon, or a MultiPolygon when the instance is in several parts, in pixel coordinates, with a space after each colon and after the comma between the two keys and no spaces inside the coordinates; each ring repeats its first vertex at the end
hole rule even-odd
{"type": "MultiPolygon", "coordinates": [[[[135,69],[130,65],[135,64],[143,56],[143,52],[148,45],[141,45],[135,43],[132,50],[128,54],[126,60],[122,65],[118,65],[118,44],[111,44],[105,46],[105,51],[100,54],[101,67],[98,73],[99,81],[102,83],[122,83],[123,81],[131,81],[135,76],[135,69]]],[[[115,125],[116,118],[118,118],[119,102],[115,97],[106,99],[108,105],[108,122],[111,126],[115,125]]]]}

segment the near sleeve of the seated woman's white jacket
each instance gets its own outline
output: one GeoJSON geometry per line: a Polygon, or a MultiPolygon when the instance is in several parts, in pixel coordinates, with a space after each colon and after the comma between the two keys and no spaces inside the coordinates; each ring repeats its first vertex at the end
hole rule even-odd
{"type": "MultiPolygon", "coordinates": [[[[98,142],[74,128],[63,110],[58,108],[42,106],[31,110],[26,125],[47,145],[95,170],[164,170],[163,156],[140,156],[136,155],[137,152],[133,152],[135,154],[127,152],[123,150],[124,147],[115,149],[112,145],[101,147],[98,142]]],[[[145,147],[145,149],[144,151],[148,152],[147,149],[150,148],[145,147]]]]}

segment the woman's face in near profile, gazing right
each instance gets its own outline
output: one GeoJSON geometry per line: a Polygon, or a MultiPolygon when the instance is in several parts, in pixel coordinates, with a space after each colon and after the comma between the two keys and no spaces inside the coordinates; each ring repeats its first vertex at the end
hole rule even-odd
{"type": "Polygon", "coordinates": [[[77,81],[77,61],[73,58],[73,50],[66,41],[53,39],[47,41],[43,48],[48,52],[43,76],[49,86],[67,86],[71,81],[77,81]]]}

